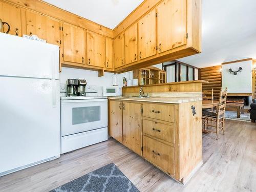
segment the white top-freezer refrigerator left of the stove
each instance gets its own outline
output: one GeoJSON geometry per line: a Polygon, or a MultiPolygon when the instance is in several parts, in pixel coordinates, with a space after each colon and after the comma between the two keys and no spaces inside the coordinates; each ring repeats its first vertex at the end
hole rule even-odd
{"type": "Polygon", "coordinates": [[[0,33],[0,176],[59,156],[59,47],[0,33]]]}

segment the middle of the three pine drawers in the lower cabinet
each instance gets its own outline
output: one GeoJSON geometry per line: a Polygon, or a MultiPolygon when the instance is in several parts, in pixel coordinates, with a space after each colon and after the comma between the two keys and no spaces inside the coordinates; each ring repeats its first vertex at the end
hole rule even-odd
{"type": "Polygon", "coordinates": [[[143,119],[143,133],[170,143],[175,143],[173,125],[143,119]]]}

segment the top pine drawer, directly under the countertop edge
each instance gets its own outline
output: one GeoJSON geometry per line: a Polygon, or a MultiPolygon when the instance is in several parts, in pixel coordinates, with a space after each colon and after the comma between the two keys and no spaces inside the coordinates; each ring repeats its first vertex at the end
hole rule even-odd
{"type": "Polygon", "coordinates": [[[174,122],[174,105],[145,103],[143,104],[143,116],[174,122]]]}

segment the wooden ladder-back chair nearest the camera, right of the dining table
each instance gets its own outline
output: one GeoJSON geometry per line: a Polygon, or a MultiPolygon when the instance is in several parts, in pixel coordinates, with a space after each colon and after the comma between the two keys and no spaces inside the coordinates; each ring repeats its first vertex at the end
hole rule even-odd
{"type": "Polygon", "coordinates": [[[204,120],[204,130],[205,126],[207,128],[209,126],[215,127],[216,131],[210,131],[207,130],[208,132],[216,133],[217,138],[219,139],[219,131],[222,130],[222,134],[224,135],[225,133],[225,110],[226,110],[226,100],[227,100],[227,88],[225,91],[222,92],[220,91],[219,95],[219,105],[217,107],[217,113],[211,112],[211,111],[203,111],[203,120],[204,120]],[[209,121],[211,124],[209,124],[209,121]],[[220,124],[222,126],[220,127],[220,124]]]}

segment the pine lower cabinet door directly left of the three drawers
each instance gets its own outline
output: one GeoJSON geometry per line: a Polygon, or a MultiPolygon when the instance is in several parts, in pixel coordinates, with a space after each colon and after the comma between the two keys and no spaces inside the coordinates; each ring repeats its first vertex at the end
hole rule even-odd
{"type": "Polygon", "coordinates": [[[132,151],[141,154],[141,104],[123,102],[123,144],[132,151]]]}

